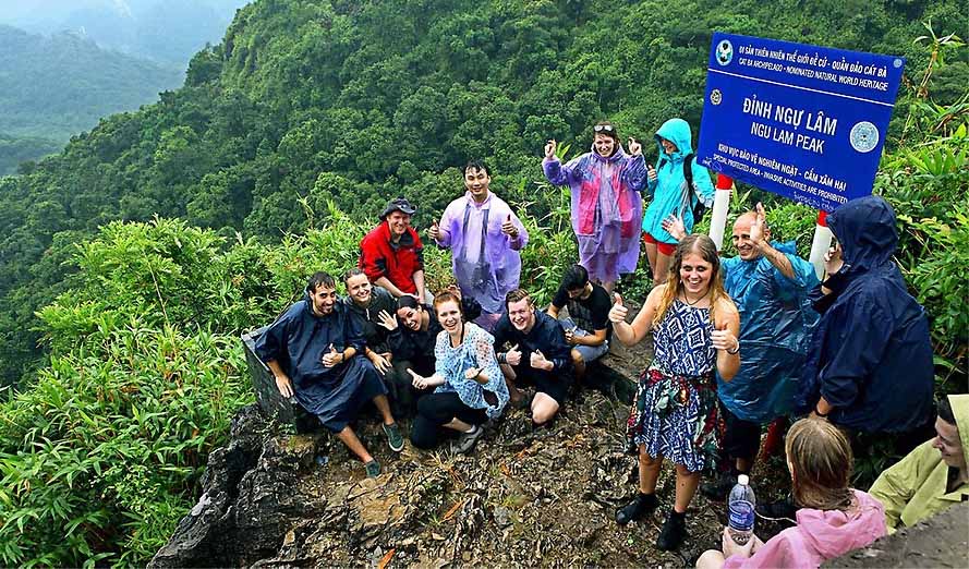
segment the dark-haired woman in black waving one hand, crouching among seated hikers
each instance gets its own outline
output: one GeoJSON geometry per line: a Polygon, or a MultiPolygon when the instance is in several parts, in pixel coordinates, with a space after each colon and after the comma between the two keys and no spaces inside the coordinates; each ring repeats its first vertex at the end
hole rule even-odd
{"type": "Polygon", "coordinates": [[[400,413],[413,415],[417,397],[427,390],[415,389],[410,372],[417,375],[434,373],[434,344],[441,330],[440,324],[431,306],[421,304],[412,294],[397,299],[393,314],[381,311],[377,318],[388,331],[393,370],[386,378],[395,407],[400,413]]]}

